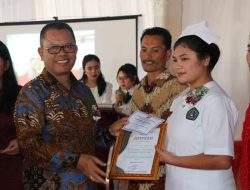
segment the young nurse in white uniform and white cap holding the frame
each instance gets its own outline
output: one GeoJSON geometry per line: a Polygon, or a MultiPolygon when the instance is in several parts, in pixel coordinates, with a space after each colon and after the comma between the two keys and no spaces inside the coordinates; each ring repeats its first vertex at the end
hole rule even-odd
{"type": "Polygon", "coordinates": [[[166,147],[167,190],[235,190],[232,173],[235,104],[213,80],[220,50],[206,22],[186,28],[174,45],[174,71],[188,84],[170,108],[166,147]]]}

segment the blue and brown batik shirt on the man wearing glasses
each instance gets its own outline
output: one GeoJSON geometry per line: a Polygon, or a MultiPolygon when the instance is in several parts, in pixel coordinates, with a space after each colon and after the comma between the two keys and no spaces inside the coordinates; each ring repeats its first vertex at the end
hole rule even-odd
{"type": "Polygon", "coordinates": [[[94,155],[95,144],[108,144],[109,136],[95,125],[89,88],[70,79],[68,90],[44,70],[19,94],[14,117],[25,189],[93,189],[76,166],[80,154],[94,155]]]}

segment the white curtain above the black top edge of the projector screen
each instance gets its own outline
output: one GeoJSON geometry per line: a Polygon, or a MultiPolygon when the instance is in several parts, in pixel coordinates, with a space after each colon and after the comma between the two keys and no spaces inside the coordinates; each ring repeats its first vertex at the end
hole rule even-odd
{"type": "Polygon", "coordinates": [[[159,0],[0,0],[0,23],[142,15],[142,28],[154,25],[159,0]]]}

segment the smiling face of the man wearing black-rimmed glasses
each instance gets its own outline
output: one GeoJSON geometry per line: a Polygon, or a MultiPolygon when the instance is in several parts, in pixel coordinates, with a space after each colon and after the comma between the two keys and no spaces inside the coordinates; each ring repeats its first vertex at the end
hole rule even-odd
{"type": "Polygon", "coordinates": [[[75,44],[75,41],[68,30],[50,29],[45,34],[42,44],[43,47],[38,49],[46,70],[57,79],[63,76],[69,76],[75,64],[77,48],[72,53],[65,53],[63,49],[61,49],[57,54],[50,54],[46,48],[69,44],[75,44]]]}

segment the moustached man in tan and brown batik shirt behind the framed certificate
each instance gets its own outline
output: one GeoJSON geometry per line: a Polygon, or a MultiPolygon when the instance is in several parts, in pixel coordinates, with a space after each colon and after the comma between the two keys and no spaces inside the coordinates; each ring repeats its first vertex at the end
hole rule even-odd
{"type": "MultiPolygon", "coordinates": [[[[160,27],[148,28],[141,36],[140,58],[147,75],[137,85],[131,101],[132,112],[141,110],[167,119],[170,105],[186,86],[180,85],[167,69],[171,56],[171,35],[160,27]]],[[[167,182],[166,182],[167,183],[167,182]]],[[[157,180],[129,181],[129,190],[165,189],[165,165],[160,165],[157,180]]]]}

